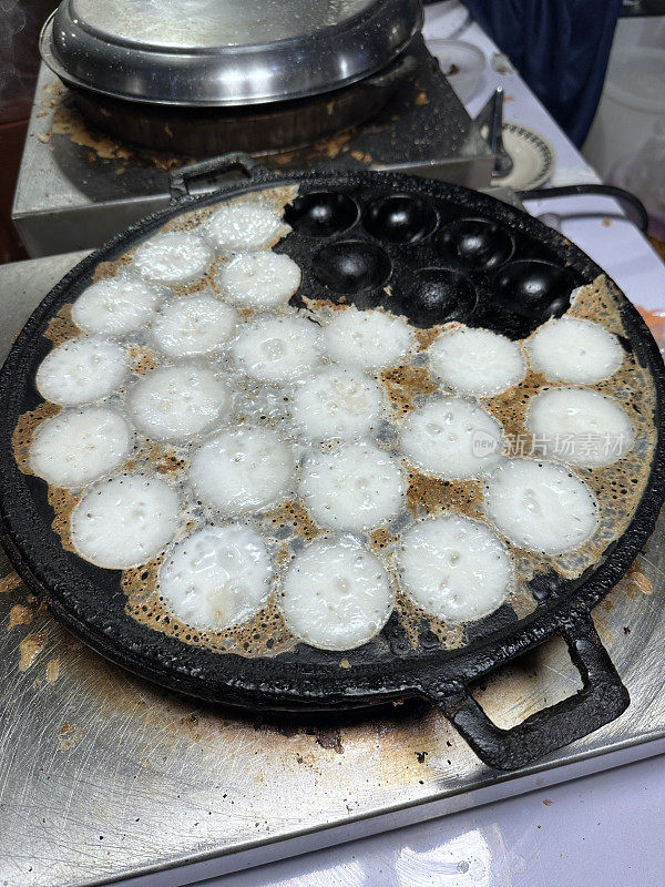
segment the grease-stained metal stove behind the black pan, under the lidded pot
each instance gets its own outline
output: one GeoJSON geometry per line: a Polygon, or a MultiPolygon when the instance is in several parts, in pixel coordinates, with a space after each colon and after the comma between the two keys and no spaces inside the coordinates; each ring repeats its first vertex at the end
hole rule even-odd
{"type": "MultiPolygon", "coordinates": [[[[266,156],[275,170],[392,170],[482,187],[492,154],[438,62],[420,65],[368,123],[316,145],[266,156]]],[[[100,246],[168,202],[168,170],[191,162],[92,132],[44,65],[17,184],[12,217],[31,256],[100,246]]],[[[195,160],[195,159],[194,159],[195,160]]]]}

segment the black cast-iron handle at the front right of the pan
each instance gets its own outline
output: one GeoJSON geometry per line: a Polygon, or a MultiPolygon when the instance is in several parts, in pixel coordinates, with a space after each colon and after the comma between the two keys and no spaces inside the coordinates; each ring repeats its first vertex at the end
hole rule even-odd
{"type": "Polygon", "coordinates": [[[592,733],[618,717],[630,704],[623,685],[590,615],[562,626],[560,634],[577,667],[582,689],[555,705],[532,714],[510,730],[498,727],[468,687],[438,693],[421,687],[473,748],[495,769],[518,769],[592,733]]]}

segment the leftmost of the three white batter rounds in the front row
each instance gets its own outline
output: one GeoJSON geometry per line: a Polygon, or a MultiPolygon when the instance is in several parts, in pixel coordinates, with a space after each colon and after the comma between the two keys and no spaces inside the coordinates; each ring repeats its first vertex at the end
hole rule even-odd
{"type": "Polygon", "coordinates": [[[258,613],[272,574],[266,547],[249,527],[205,527],[175,543],[160,567],[158,591],[181,622],[223,631],[258,613]]]}

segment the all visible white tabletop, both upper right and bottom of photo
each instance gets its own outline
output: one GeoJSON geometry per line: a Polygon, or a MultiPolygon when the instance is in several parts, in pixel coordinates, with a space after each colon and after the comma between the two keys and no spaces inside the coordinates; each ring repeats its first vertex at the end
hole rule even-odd
{"type": "MultiPolygon", "coordinates": [[[[427,8],[426,38],[454,37],[482,49],[487,68],[468,103],[475,114],[497,85],[505,119],[540,132],[553,146],[551,184],[597,175],[495,44],[457,0],[427,8]]],[[[665,310],[665,266],[608,197],[528,204],[556,213],[561,230],[637,305],[665,310]]],[[[297,799],[294,799],[297,803],[297,799]]],[[[665,761],[618,769],[489,804],[466,813],[274,863],[206,884],[224,887],[632,887],[665,885],[665,761]]]]}

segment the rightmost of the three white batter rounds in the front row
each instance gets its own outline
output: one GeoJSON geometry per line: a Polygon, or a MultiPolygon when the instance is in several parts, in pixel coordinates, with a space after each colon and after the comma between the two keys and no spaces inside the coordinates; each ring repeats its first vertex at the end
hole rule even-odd
{"type": "Polygon", "coordinates": [[[402,590],[426,613],[450,622],[493,613],[511,590],[508,547],[484,523],[460,514],[415,524],[397,555],[402,590]]]}

